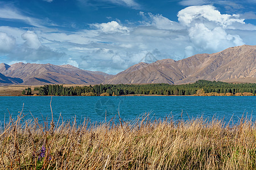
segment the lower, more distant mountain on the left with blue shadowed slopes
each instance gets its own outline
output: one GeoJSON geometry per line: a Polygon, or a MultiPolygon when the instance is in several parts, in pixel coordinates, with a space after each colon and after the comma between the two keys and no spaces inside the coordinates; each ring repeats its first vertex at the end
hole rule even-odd
{"type": "Polygon", "coordinates": [[[99,84],[108,77],[100,71],[81,70],[71,65],[15,63],[0,64],[0,84],[99,84]]]}

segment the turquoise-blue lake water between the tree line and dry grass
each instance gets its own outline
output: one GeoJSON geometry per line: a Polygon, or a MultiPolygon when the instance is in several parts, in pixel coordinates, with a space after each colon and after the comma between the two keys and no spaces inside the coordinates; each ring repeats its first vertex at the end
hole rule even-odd
{"type": "MultiPolygon", "coordinates": [[[[31,118],[30,112],[40,121],[51,119],[51,96],[20,96],[0,97],[0,121],[8,120],[9,112],[13,117],[20,111],[31,118]],[[23,107],[24,104],[24,107],[23,107]],[[9,111],[8,111],[8,110],[9,111]],[[43,117],[43,118],[42,118],[43,117]]],[[[100,122],[118,116],[118,111],[123,120],[134,120],[143,113],[150,113],[152,118],[172,116],[174,120],[182,118],[213,116],[229,121],[230,118],[237,122],[242,115],[256,120],[255,96],[53,96],[52,111],[54,120],[63,116],[63,120],[77,120],[90,118],[91,122],[100,122]]]]}

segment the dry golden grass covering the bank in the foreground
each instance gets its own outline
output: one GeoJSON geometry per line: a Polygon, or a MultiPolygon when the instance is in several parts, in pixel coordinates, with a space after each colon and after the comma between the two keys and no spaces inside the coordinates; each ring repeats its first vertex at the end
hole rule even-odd
{"type": "Polygon", "coordinates": [[[255,122],[143,116],[88,126],[18,117],[0,133],[1,169],[255,169],[255,122]]]}

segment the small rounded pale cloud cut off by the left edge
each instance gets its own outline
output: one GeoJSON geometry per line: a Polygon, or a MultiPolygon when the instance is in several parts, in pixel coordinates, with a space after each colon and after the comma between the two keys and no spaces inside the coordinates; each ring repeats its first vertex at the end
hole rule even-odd
{"type": "Polygon", "coordinates": [[[5,32],[0,32],[0,53],[10,52],[15,46],[15,38],[7,35],[5,32]]]}

